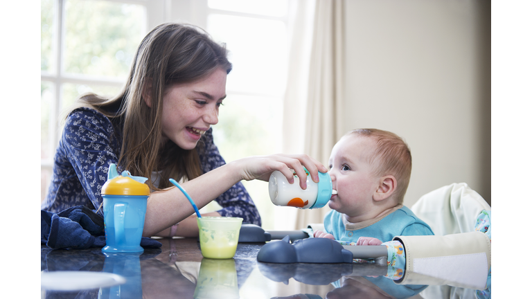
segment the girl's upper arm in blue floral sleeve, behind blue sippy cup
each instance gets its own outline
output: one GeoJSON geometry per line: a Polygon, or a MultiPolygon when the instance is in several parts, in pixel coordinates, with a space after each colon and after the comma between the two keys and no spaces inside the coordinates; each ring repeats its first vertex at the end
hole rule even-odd
{"type": "MultiPolygon", "coordinates": [[[[102,203],[100,191],[107,181],[109,164],[117,163],[119,152],[114,127],[94,109],[80,108],[65,121],[54,157],[54,205],[60,210],[76,205],[102,203]]],[[[103,210],[98,210],[103,216],[103,210]]]]}

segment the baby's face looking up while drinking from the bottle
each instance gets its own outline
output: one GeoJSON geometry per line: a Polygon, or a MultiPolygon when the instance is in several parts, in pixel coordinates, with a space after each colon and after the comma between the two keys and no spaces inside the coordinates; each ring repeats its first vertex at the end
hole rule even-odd
{"type": "Polygon", "coordinates": [[[330,198],[330,208],[349,217],[364,215],[373,208],[379,179],[371,174],[373,168],[366,157],[374,150],[373,140],[357,135],[342,137],[332,148],[329,174],[337,194],[330,198]]]}

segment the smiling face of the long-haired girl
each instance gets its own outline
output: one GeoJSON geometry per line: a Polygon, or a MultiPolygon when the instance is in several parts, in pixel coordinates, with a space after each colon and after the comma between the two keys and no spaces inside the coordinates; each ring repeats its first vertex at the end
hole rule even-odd
{"type": "Polygon", "coordinates": [[[172,141],[193,149],[211,125],[218,123],[218,109],[225,94],[227,71],[216,69],[195,82],[175,84],[163,96],[163,143],[172,141]]]}

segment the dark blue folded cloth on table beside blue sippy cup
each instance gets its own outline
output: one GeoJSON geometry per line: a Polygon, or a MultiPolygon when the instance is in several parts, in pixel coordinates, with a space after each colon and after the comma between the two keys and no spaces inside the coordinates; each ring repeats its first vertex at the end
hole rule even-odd
{"type": "MultiPolygon", "coordinates": [[[[41,244],[53,249],[103,247],[103,217],[86,206],[73,206],[59,213],[41,210],[41,244]]],[[[160,248],[162,244],[143,237],[141,246],[160,248]]]]}

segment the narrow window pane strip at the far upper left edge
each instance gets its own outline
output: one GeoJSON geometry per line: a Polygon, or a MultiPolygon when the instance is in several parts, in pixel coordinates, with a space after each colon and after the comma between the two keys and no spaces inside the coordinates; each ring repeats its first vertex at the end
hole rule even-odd
{"type": "Polygon", "coordinates": [[[54,1],[41,0],[41,71],[53,71],[54,1]]]}

